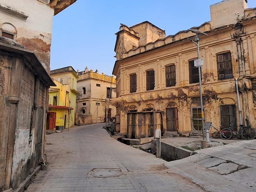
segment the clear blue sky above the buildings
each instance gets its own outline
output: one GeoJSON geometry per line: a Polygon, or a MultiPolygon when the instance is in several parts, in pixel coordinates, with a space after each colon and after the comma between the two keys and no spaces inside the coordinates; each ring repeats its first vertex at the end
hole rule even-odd
{"type": "MultiPolygon", "coordinates": [[[[115,33],[120,23],[132,26],[148,20],[166,36],[210,21],[210,5],[220,0],[77,0],[54,16],[51,70],[75,70],[111,75],[115,63],[115,33]]],[[[248,0],[256,7],[256,0],[248,0]]]]}

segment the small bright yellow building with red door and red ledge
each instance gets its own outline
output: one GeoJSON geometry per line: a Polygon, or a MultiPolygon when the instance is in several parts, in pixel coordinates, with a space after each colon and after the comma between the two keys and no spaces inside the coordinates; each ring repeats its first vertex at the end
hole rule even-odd
{"type": "Polygon", "coordinates": [[[78,76],[71,66],[52,70],[50,76],[54,79],[56,86],[51,86],[49,89],[46,128],[63,130],[73,126],[75,122],[78,76]]]}

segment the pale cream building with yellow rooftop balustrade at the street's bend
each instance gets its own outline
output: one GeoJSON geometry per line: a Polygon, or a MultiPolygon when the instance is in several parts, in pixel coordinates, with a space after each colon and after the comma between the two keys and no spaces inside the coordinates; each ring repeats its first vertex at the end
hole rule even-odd
{"type": "Polygon", "coordinates": [[[111,104],[116,97],[116,80],[114,76],[99,74],[86,67],[82,72],[78,71],[76,124],[102,123],[115,117],[116,107],[111,104]],[[110,102],[109,102],[110,101],[110,102]],[[108,114],[108,115],[106,115],[108,114]]]}

